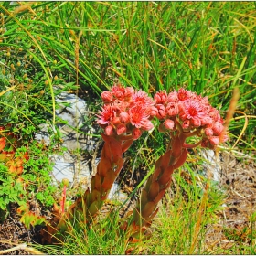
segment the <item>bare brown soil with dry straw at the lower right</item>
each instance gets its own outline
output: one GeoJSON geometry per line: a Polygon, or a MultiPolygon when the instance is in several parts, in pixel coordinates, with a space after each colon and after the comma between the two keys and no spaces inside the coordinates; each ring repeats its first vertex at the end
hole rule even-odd
{"type": "Polygon", "coordinates": [[[229,249],[236,244],[234,254],[256,254],[255,160],[245,158],[246,155],[240,155],[240,159],[229,153],[221,156],[222,174],[219,186],[225,189],[227,198],[225,207],[219,214],[219,223],[208,227],[208,251],[229,249]],[[252,241],[254,244],[251,244],[252,241]],[[253,249],[242,251],[246,247],[253,249]]]}

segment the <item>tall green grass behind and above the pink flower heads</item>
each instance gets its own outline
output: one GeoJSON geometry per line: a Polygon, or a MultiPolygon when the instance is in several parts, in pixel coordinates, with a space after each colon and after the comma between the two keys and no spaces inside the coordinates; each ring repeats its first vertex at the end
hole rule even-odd
{"type": "MultiPolygon", "coordinates": [[[[48,100],[54,98],[53,85],[77,80],[76,56],[79,87],[95,97],[115,79],[148,92],[186,86],[207,95],[224,115],[232,90],[238,86],[240,112],[236,116],[249,116],[250,121],[241,139],[249,136],[252,147],[247,145],[247,149],[255,148],[252,2],[35,2],[30,9],[14,14],[16,6],[10,2],[2,5],[6,31],[2,31],[0,61],[7,66],[6,72],[16,77],[21,74],[10,69],[11,62],[16,66],[22,60],[23,67],[25,55],[31,57],[34,67],[23,72],[27,80],[34,80],[35,71],[39,71],[37,88],[49,91],[48,100]],[[8,50],[9,59],[5,57],[8,50]],[[54,80],[55,76],[59,80],[54,80]]],[[[12,85],[8,79],[4,82],[12,85]]],[[[54,109],[52,101],[45,111],[53,114],[54,109]]],[[[240,135],[244,122],[245,118],[240,118],[230,124],[231,136],[240,135]]],[[[245,146],[243,141],[240,144],[245,146]]]]}

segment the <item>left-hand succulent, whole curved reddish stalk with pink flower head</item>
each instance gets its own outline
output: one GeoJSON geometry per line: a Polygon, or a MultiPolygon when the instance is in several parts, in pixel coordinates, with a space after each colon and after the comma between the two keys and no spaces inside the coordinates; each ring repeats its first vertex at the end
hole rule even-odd
{"type": "MultiPolygon", "coordinates": [[[[112,87],[112,91],[103,91],[101,98],[105,104],[97,122],[104,129],[104,133],[101,133],[104,145],[96,175],[91,178],[91,187],[70,206],[65,214],[63,198],[61,205],[63,214],[58,210],[58,218],[48,224],[48,230],[42,231],[43,234],[47,232],[56,234],[57,231],[65,233],[68,230],[67,219],[71,222],[91,223],[123,168],[123,153],[143,131],[153,128],[149,119],[152,118],[154,101],[145,92],[117,85],[112,87]]],[[[61,236],[59,239],[61,240],[61,236]]],[[[48,242],[52,242],[52,237],[48,237],[48,242]]]]}

